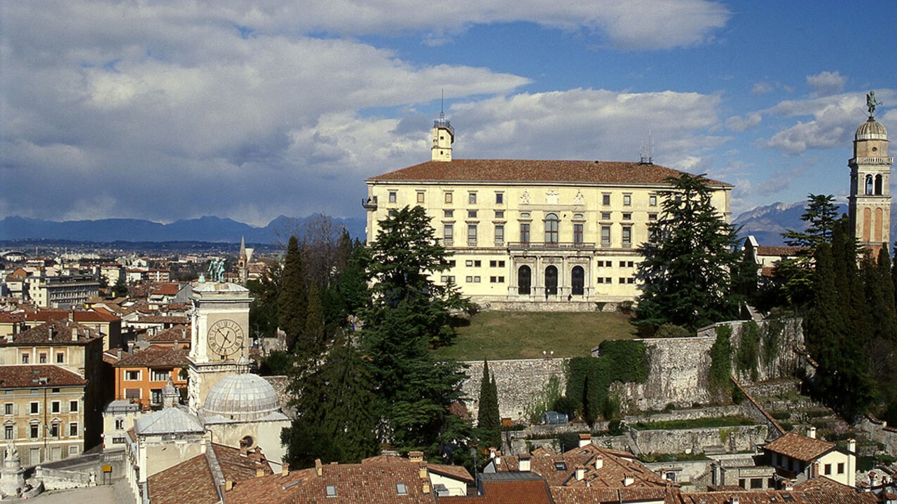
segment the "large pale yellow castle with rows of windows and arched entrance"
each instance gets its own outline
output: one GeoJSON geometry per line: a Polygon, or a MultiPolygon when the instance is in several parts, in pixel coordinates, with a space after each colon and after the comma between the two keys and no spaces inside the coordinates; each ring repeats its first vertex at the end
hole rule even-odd
{"type": "MultiPolygon", "coordinates": [[[[454,256],[437,282],[476,302],[633,300],[639,245],[661,212],[667,178],[683,172],[627,161],[456,160],[440,117],[431,161],[366,180],[368,242],[378,222],[420,205],[454,256]]],[[[732,187],[708,180],[728,221],[732,187]]]]}

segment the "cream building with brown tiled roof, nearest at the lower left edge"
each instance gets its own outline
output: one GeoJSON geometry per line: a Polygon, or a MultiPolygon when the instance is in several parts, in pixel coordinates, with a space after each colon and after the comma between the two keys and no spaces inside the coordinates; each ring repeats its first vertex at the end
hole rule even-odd
{"type": "Polygon", "coordinates": [[[22,465],[62,460],[87,448],[87,385],[88,380],[52,364],[0,366],[4,439],[15,442],[22,465]]]}

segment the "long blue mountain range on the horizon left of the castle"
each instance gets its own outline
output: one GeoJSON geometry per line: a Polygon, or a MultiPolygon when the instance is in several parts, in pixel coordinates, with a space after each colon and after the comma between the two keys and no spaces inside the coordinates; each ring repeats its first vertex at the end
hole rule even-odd
{"type": "MultiPolygon", "coordinates": [[[[19,216],[0,220],[0,240],[65,239],[77,241],[206,241],[270,244],[283,241],[289,233],[300,230],[313,216],[290,218],[283,215],[264,228],[220,217],[200,217],[161,224],[139,219],[100,219],[97,221],[44,221],[19,216]]],[[[366,222],[357,218],[331,217],[336,225],[344,226],[353,238],[364,239],[366,222]]]]}

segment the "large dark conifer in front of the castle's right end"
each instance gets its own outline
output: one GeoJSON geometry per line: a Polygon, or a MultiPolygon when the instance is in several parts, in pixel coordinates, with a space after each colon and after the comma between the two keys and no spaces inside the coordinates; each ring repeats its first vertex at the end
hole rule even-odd
{"type": "Polygon", "coordinates": [[[641,281],[636,324],[653,331],[667,322],[689,329],[738,316],[733,294],[741,253],[736,230],[712,204],[702,176],[667,178],[662,212],[639,247],[641,281]]]}

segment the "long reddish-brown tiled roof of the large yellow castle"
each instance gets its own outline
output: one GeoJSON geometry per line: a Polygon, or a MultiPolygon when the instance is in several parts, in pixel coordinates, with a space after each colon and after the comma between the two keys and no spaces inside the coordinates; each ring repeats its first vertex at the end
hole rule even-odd
{"type": "MultiPolygon", "coordinates": [[[[371,177],[374,182],[579,182],[584,184],[658,185],[684,172],[658,164],[630,161],[452,160],[426,161],[371,177]]],[[[710,186],[732,187],[706,179],[710,186]]]]}

